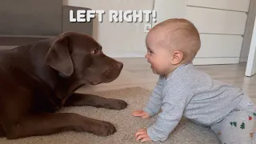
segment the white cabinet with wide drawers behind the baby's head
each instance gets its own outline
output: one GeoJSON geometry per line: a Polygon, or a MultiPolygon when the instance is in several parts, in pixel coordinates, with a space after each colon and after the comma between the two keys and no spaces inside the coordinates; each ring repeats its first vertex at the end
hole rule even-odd
{"type": "Polygon", "coordinates": [[[178,16],[198,28],[202,47],[195,65],[228,64],[239,62],[249,4],[250,0],[158,0],[155,10],[161,13],[159,22],[178,16]]]}

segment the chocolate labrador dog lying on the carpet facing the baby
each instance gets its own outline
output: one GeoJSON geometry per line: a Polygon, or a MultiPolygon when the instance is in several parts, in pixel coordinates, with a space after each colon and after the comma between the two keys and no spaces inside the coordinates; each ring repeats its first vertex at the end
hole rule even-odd
{"type": "Polygon", "coordinates": [[[81,86],[114,81],[122,66],[103,54],[94,38],[74,32],[0,51],[0,136],[25,138],[65,130],[114,134],[110,122],[54,112],[63,106],[125,109],[122,100],[75,93],[81,86]]]}

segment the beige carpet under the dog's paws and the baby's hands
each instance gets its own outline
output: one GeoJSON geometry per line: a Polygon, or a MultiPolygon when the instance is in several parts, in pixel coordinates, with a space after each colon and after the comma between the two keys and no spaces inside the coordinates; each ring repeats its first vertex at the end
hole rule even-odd
{"type": "MultiPolygon", "coordinates": [[[[146,126],[150,126],[156,117],[147,120],[134,118],[131,113],[140,110],[146,104],[150,91],[140,87],[126,88],[122,90],[110,90],[97,93],[106,98],[120,98],[128,102],[129,106],[125,110],[106,110],[91,106],[69,107],[62,112],[74,112],[90,118],[97,118],[109,121],[116,126],[118,132],[108,137],[98,137],[96,135],[76,132],[63,132],[50,136],[39,136],[30,138],[20,138],[17,140],[6,140],[0,138],[1,144],[135,144],[135,132],[146,126]]],[[[154,142],[145,142],[154,143],[154,142]]],[[[157,143],[157,142],[156,142],[157,143]]],[[[196,126],[194,123],[182,119],[170,138],[165,144],[218,144],[218,138],[210,129],[196,126]]]]}

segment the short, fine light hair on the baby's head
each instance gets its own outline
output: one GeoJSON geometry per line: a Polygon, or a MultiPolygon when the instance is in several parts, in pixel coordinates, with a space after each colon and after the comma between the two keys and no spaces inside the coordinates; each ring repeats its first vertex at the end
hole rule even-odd
{"type": "Polygon", "coordinates": [[[183,54],[182,62],[192,62],[201,47],[200,35],[194,24],[184,18],[171,18],[158,23],[153,30],[166,33],[168,46],[183,54]]]}

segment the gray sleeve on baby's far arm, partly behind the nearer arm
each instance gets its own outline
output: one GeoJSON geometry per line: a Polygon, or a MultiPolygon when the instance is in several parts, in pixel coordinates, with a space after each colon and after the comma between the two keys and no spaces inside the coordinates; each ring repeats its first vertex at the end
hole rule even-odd
{"type": "Polygon", "coordinates": [[[162,76],[159,76],[158,82],[150,95],[150,100],[147,102],[146,107],[143,109],[146,114],[149,114],[150,117],[153,117],[158,113],[162,106],[162,88],[163,88],[163,79],[162,76]]]}

